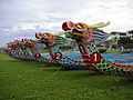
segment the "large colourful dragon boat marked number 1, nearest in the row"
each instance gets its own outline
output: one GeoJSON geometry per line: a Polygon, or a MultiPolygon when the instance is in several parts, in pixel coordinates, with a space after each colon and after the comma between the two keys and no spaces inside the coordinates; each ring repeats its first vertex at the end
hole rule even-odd
{"type": "MultiPolygon", "coordinates": [[[[98,69],[100,72],[133,78],[133,64],[122,64],[109,61],[101,56],[100,51],[96,48],[96,44],[93,40],[93,32],[91,31],[98,30],[98,28],[105,27],[110,22],[101,22],[94,26],[88,26],[82,22],[73,23],[71,21],[66,21],[62,24],[62,28],[65,31],[65,36],[68,38],[74,39],[76,41],[79,50],[86,66],[88,63],[92,63],[94,68],[98,69]]],[[[100,33],[100,36],[102,34],[100,33]]],[[[102,39],[106,39],[106,37],[104,36],[102,39]]],[[[102,39],[99,38],[98,40],[102,39]]]]}

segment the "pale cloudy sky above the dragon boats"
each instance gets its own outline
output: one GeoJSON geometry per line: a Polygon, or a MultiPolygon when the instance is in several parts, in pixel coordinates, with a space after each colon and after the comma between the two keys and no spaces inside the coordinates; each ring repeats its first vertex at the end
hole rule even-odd
{"type": "Polygon", "coordinates": [[[110,21],[106,32],[133,30],[132,0],[0,0],[0,47],[35,32],[62,31],[64,21],[110,21]]]}

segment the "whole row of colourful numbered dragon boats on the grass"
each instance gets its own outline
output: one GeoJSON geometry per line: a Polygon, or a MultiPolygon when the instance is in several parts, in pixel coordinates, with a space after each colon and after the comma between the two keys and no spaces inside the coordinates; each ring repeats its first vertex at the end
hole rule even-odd
{"type": "Polygon", "coordinates": [[[88,69],[105,74],[133,78],[133,64],[122,64],[106,60],[98,50],[95,41],[105,41],[109,33],[100,28],[106,27],[100,22],[89,26],[83,22],[65,21],[62,32],[37,32],[34,40],[21,39],[7,43],[4,52],[14,59],[38,61],[49,66],[60,66],[65,69],[88,69]],[[68,40],[74,40],[79,53],[63,52],[68,40]],[[39,52],[45,49],[45,53],[39,52]]]}

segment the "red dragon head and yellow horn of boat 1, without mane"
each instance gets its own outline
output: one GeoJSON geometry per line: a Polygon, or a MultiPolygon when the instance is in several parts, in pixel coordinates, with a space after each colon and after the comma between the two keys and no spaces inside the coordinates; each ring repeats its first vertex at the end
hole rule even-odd
{"type": "Polygon", "coordinates": [[[110,24],[110,21],[106,23],[100,22],[93,26],[88,26],[83,22],[73,23],[72,21],[65,21],[62,24],[62,29],[65,31],[65,36],[76,41],[89,42],[92,40],[92,30],[102,28],[110,24]]]}

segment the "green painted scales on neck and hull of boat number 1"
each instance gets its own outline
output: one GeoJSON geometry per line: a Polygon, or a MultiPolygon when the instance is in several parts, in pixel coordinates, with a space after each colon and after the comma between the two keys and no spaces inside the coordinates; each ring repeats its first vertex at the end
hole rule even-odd
{"type": "MultiPolygon", "coordinates": [[[[93,53],[100,53],[94,44],[94,42],[89,42],[86,46],[86,50],[90,56],[93,53]]],[[[113,64],[111,61],[108,61],[100,54],[100,61],[95,62],[95,68],[101,72],[121,77],[133,77],[133,66],[124,66],[124,64],[113,64]]]]}

